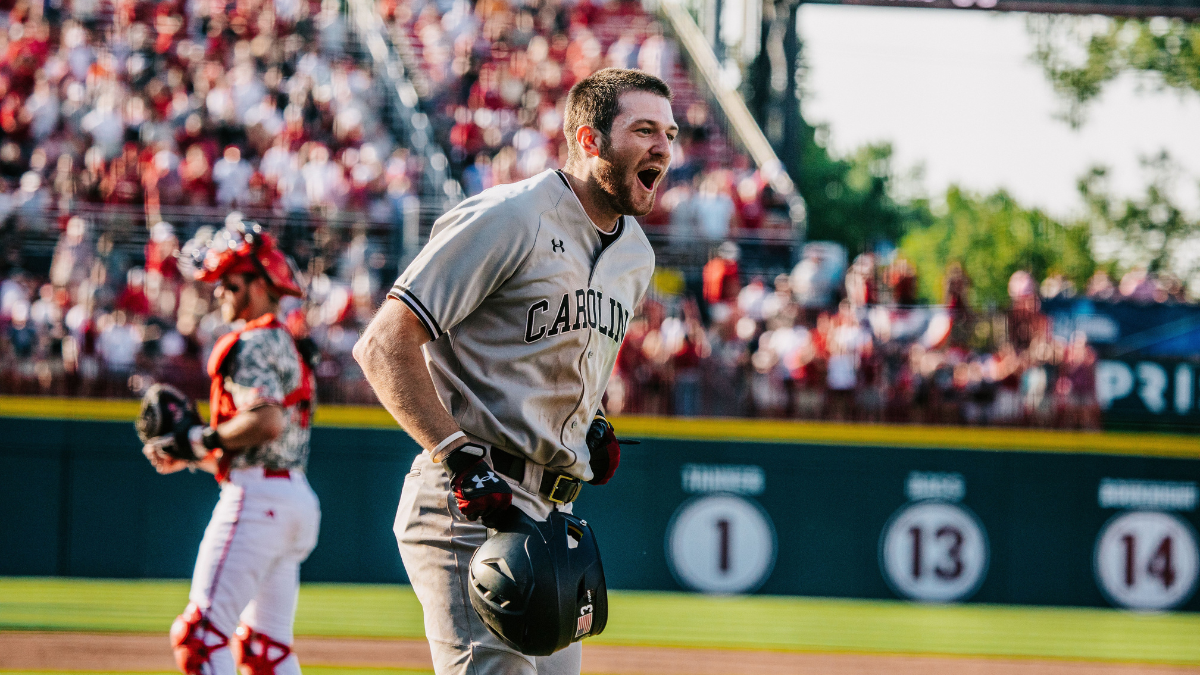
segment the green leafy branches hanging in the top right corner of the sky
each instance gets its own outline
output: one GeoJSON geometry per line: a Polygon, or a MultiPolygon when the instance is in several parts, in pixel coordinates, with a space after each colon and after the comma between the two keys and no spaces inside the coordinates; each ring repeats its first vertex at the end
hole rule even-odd
{"type": "Polygon", "coordinates": [[[1063,98],[1061,117],[1082,125],[1090,102],[1123,73],[1158,90],[1200,92],[1200,23],[1031,14],[1032,59],[1063,98]]]}

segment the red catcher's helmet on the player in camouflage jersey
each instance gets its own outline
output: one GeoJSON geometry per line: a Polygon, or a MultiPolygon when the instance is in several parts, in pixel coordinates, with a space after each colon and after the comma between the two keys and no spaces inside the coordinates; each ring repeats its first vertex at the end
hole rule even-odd
{"type": "Polygon", "coordinates": [[[197,281],[218,281],[227,274],[258,274],[280,295],[304,297],[295,263],[257,222],[229,217],[208,241],[187,247],[197,281]]]}

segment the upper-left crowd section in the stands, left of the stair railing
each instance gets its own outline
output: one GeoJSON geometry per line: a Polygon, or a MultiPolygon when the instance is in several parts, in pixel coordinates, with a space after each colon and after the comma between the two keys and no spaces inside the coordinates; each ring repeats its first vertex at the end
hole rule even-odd
{"type": "Polygon", "coordinates": [[[230,208],[390,221],[420,172],[336,4],[7,5],[0,221],[61,229],[92,204],[145,227],[230,208]]]}

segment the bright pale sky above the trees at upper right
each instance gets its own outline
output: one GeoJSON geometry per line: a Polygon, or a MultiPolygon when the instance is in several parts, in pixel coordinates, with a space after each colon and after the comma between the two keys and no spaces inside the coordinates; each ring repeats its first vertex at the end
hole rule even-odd
{"type": "Polygon", "coordinates": [[[1184,167],[1176,195],[1200,204],[1200,95],[1110,84],[1073,131],[1040,67],[1025,16],[979,11],[803,5],[809,67],[805,119],[824,123],[845,153],[890,141],[901,169],[923,165],[924,187],[1004,187],[1060,217],[1079,213],[1076,179],[1111,168],[1118,193],[1146,184],[1139,157],[1168,149],[1184,167]]]}

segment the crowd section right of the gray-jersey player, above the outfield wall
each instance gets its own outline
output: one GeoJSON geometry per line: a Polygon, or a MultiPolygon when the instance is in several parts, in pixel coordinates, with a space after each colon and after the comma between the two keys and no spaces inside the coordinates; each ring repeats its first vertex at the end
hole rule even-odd
{"type": "MultiPolygon", "coordinates": [[[[1016,271],[1007,309],[977,311],[953,264],[941,305],[917,303],[914,268],[864,253],[848,268],[812,243],[791,274],[750,279],[738,249],[706,265],[698,298],[658,293],[631,321],[608,389],[614,412],[1098,429],[1097,353],[1055,333],[1048,298],[1061,276],[1016,271]],[[845,273],[842,273],[845,270],[845,273]]],[[[664,286],[664,285],[660,285],[664,286]]],[[[1098,271],[1082,293],[1109,301],[1178,300],[1171,277],[1098,271]],[[1172,294],[1175,293],[1175,294],[1172,294]]]]}

